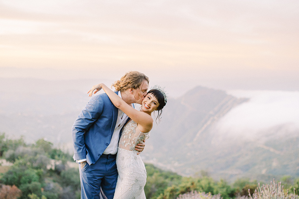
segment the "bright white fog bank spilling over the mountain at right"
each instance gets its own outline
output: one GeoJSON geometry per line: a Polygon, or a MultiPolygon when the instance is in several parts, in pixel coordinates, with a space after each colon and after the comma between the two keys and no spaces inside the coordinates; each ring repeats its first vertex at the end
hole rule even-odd
{"type": "Polygon", "coordinates": [[[263,142],[298,134],[298,91],[230,90],[227,93],[249,98],[249,101],[230,110],[218,121],[213,129],[217,139],[263,142]]]}

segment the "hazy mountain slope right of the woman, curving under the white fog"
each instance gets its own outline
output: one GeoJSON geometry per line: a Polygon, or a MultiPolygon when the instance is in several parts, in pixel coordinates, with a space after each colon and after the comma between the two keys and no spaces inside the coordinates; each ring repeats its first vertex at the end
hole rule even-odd
{"type": "Polygon", "coordinates": [[[251,140],[217,132],[219,119],[248,100],[203,87],[172,99],[146,142],[144,159],[183,175],[205,170],[214,179],[230,181],[242,177],[262,181],[283,175],[298,177],[297,129],[278,124],[251,140]]]}

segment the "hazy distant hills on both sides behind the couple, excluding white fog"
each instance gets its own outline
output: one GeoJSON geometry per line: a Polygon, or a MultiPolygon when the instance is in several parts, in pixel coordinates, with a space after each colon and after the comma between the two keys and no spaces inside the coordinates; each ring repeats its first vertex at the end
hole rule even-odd
{"type": "MultiPolygon", "coordinates": [[[[94,82],[0,78],[0,132],[11,138],[24,136],[30,143],[45,138],[72,153],[71,127],[90,99],[86,91],[94,82]]],[[[215,179],[230,181],[299,177],[297,128],[278,123],[255,132],[253,139],[217,129],[221,118],[248,100],[200,86],[168,99],[161,122],[146,141],[143,159],[182,175],[205,170],[215,179]]]]}

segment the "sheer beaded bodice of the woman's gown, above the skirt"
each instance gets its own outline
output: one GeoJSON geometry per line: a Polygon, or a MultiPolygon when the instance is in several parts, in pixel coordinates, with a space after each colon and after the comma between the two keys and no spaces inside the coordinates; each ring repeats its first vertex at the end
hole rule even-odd
{"type": "Polygon", "coordinates": [[[137,123],[131,120],[125,125],[121,133],[118,147],[121,149],[138,152],[135,150],[135,146],[143,142],[143,140],[148,139],[149,137],[150,132],[140,132],[137,127],[137,123]]]}

